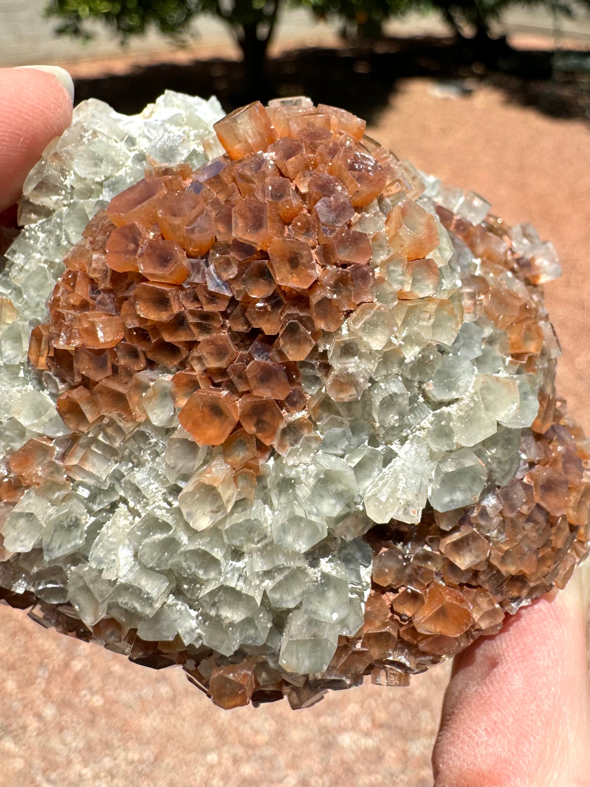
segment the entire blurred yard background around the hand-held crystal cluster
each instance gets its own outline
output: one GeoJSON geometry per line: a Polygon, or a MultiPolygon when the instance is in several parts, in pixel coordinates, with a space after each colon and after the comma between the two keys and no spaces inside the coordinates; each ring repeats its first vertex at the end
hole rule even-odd
{"type": "MultiPolygon", "coordinates": [[[[0,0],[0,67],[68,68],[124,113],[172,89],[229,111],[307,94],[508,224],[551,239],[558,386],[590,429],[590,2],[0,0]],[[61,31],[58,34],[57,31],[61,31]]],[[[540,642],[543,633],[540,632],[540,642]]],[[[0,606],[0,785],[431,785],[451,665],[409,688],[221,711],[152,671],[0,606]]]]}

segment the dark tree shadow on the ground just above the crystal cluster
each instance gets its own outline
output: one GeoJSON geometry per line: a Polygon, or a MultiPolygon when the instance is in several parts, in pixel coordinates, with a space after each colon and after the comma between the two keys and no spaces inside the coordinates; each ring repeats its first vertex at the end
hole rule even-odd
{"type": "Polygon", "coordinates": [[[226,111],[272,95],[310,96],[375,122],[400,79],[440,79],[450,91],[478,83],[500,87],[508,100],[559,117],[590,117],[590,55],[521,51],[505,40],[479,46],[453,39],[380,39],[371,46],[292,50],[269,61],[267,85],[245,87],[242,63],[215,58],[189,65],[160,63],[117,76],[76,81],[79,101],[101,98],[115,109],[136,113],[165,89],[216,94],[226,111]],[[257,94],[254,94],[257,93],[257,94]]]}

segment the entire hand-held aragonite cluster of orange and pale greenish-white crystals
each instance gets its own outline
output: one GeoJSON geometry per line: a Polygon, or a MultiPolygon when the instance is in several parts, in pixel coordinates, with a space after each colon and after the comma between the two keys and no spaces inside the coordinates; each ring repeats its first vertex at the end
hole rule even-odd
{"type": "Polygon", "coordinates": [[[555,250],[364,131],[83,102],[6,251],[2,596],[223,708],[407,685],[588,552],[555,250]]]}

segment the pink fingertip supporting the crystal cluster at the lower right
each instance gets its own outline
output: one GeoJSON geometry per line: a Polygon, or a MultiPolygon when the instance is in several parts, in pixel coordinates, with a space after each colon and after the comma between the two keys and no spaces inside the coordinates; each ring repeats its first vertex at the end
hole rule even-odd
{"type": "Polygon", "coordinates": [[[590,784],[585,618],[590,560],[455,658],[435,785],[590,784]]]}

